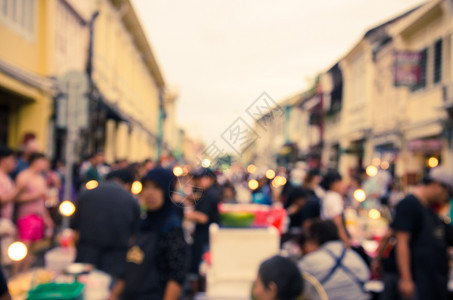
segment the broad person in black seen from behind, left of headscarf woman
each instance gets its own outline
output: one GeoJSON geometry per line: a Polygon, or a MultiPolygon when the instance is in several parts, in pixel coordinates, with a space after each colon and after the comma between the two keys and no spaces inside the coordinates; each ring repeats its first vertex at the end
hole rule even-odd
{"type": "Polygon", "coordinates": [[[124,272],[124,257],[138,229],[140,207],[130,194],[133,174],[113,171],[97,188],[77,200],[71,227],[78,233],[76,262],[93,264],[115,280],[124,272]]]}

